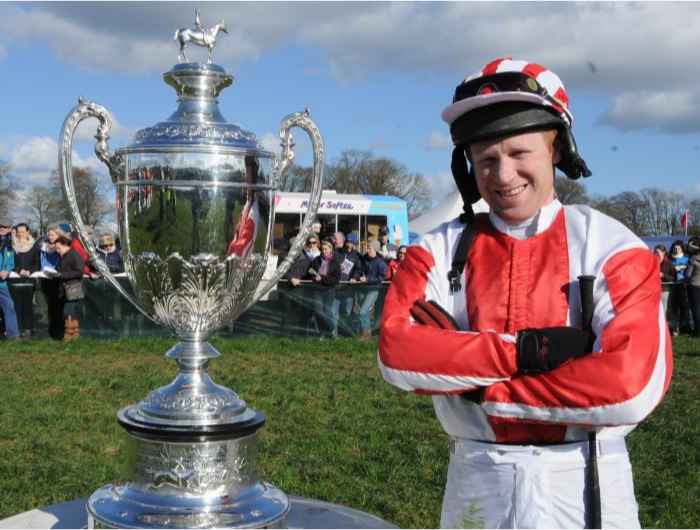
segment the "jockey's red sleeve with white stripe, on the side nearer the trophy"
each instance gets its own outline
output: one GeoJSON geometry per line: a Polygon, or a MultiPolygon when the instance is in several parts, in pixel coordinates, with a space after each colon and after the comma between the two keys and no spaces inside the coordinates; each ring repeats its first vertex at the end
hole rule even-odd
{"type": "Polygon", "coordinates": [[[512,337],[448,331],[412,321],[410,308],[425,297],[434,267],[426,249],[408,249],[384,302],[379,339],[382,375],[403,390],[431,394],[460,393],[507,380],[516,371],[512,337]]]}

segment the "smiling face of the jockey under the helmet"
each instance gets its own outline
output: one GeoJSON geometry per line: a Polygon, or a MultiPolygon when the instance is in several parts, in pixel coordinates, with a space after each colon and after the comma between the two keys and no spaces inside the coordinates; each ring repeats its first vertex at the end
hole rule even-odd
{"type": "Polygon", "coordinates": [[[554,137],[536,131],[471,145],[479,192],[507,223],[533,217],[554,199],[554,137]]]}

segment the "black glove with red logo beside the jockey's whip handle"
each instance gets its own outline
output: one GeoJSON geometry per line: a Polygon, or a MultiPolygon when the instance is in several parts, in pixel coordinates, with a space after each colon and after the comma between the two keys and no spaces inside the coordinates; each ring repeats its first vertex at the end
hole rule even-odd
{"type": "Polygon", "coordinates": [[[577,328],[523,329],[518,332],[516,349],[520,373],[549,372],[562,364],[588,355],[593,335],[577,328]]]}

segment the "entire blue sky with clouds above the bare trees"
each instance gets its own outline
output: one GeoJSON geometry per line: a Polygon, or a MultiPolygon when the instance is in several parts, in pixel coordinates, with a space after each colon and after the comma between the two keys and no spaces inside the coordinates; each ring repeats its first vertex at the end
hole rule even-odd
{"type": "MultiPolygon", "coordinates": [[[[56,138],[79,96],[106,106],[116,149],[175,109],[162,73],[195,4],[0,4],[0,158],[20,184],[45,182],[56,138]]],[[[509,55],[563,79],[594,194],[661,187],[700,196],[700,4],[199,3],[225,19],[215,62],[236,77],[220,97],[228,121],[275,143],[279,120],[307,105],[330,160],[369,149],[450,191],[440,112],[454,87],[509,55]]],[[[204,58],[203,53],[193,53],[204,58]]],[[[89,139],[92,128],[79,130],[89,139]]],[[[299,140],[301,162],[309,147],[299,140]]],[[[74,164],[100,168],[92,142],[74,164]]]]}

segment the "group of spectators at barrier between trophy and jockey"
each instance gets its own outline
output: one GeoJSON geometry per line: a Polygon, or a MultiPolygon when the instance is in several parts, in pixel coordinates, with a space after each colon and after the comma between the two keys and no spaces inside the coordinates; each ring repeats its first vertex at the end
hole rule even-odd
{"type": "Polygon", "coordinates": [[[322,237],[319,224],[312,229],[279,285],[288,316],[282,322],[283,333],[293,328],[307,335],[319,334],[322,339],[342,333],[369,339],[381,314],[382,283],[394,277],[406,257],[406,247],[390,243],[386,228],[379,230],[378,238],[370,237],[363,248],[358,248],[355,233],[322,237]],[[302,286],[305,288],[299,289],[302,286]],[[341,321],[346,323],[344,330],[339,329],[341,321]]]}

